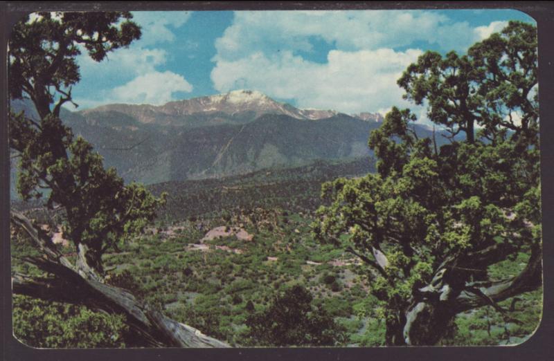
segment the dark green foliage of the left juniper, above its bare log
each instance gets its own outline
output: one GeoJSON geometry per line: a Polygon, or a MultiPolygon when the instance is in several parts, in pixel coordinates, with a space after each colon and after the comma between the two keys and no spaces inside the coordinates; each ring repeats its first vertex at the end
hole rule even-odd
{"type": "Polygon", "coordinates": [[[102,254],[152,221],[164,196],[154,198],[143,185],[124,185],[89,142],[62,124],[60,109],[71,102],[71,86],[80,80],[80,46],[100,62],[140,37],[131,18],[128,12],[41,12],[19,21],[9,41],[10,98],[30,98],[39,114],[39,120],[10,114],[10,147],[21,156],[18,192],[28,200],[45,196],[47,189],[48,208],[65,210],[63,237],[87,246],[88,266],[100,274],[102,254]]]}

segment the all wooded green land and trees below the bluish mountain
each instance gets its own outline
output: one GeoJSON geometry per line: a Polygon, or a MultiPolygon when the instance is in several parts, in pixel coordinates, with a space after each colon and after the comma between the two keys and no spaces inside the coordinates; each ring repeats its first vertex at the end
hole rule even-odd
{"type": "Polygon", "coordinates": [[[519,344],[542,315],[537,30],[510,21],[397,81],[375,158],[125,183],[60,120],[128,12],[41,14],[9,41],[13,327],[42,348],[519,344]],[[39,326],[37,326],[39,325],[39,326]]]}

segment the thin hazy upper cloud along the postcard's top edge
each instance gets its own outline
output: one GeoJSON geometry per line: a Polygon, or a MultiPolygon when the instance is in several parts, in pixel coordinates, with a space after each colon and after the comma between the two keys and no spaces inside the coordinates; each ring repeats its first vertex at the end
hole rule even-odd
{"type": "Polygon", "coordinates": [[[217,55],[241,57],[244,50],[310,50],[309,37],[320,37],[340,50],[396,48],[413,41],[464,50],[477,40],[467,22],[453,23],[438,12],[401,10],[235,12],[233,24],[217,39],[217,55]]]}

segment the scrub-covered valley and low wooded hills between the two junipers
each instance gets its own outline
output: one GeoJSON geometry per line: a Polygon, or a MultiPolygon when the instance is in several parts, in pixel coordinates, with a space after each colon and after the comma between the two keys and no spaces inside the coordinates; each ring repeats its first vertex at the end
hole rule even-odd
{"type": "MultiPolygon", "coordinates": [[[[105,254],[107,282],[233,346],[271,346],[250,332],[247,320],[277,295],[302,286],[312,295],[312,306],[332,317],[338,346],[383,346],[384,305],[369,293],[376,275],[346,250],[314,241],[310,226],[323,182],[372,169],[370,160],[361,158],[151,185],[154,194],[169,193],[168,204],[142,237],[105,254]]],[[[75,259],[71,246],[60,242],[58,248],[75,259]]],[[[24,243],[12,242],[12,254],[27,252],[24,243]]],[[[515,274],[525,257],[490,272],[515,274]]],[[[15,260],[16,270],[24,267],[15,260]]],[[[26,302],[15,297],[23,310],[26,302]]],[[[519,297],[508,323],[492,306],[462,313],[443,344],[523,342],[533,333],[541,305],[542,290],[536,290],[519,297]]],[[[70,315],[62,313],[60,324],[70,315]]]]}

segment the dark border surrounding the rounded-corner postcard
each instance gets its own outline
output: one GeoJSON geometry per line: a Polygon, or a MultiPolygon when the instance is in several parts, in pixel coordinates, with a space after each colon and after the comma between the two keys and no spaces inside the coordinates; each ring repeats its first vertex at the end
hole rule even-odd
{"type": "Polygon", "coordinates": [[[554,3],[551,1],[0,1],[0,260],[1,346],[3,360],[553,360],[554,359],[554,3]],[[9,242],[9,147],[6,50],[10,28],[35,11],[86,10],[355,10],[512,8],[526,12],[538,24],[539,107],[541,115],[542,232],[544,306],[535,335],[519,346],[382,347],[312,349],[32,349],[12,335],[9,242]]]}

